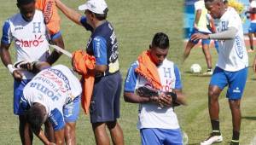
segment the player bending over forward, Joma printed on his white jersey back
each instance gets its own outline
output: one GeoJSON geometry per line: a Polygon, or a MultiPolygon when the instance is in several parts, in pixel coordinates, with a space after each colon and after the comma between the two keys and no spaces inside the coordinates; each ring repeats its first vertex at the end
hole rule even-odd
{"type": "MultiPolygon", "coordinates": [[[[55,143],[64,144],[65,124],[75,124],[79,117],[82,91],[79,79],[73,71],[63,65],[50,67],[47,62],[36,62],[33,66],[36,68],[32,70],[37,68],[44,70],[26,84],[21,96],[20,108],[32,131],[44,144],[49,144],[49,140],[44,136],[41,125],[48,118],[55,131],[55,143]]],[[[75,129],[73,131],[75,133],[75,129]]],[[[76,143],[67,142],[67,144],[76,143]]]]}

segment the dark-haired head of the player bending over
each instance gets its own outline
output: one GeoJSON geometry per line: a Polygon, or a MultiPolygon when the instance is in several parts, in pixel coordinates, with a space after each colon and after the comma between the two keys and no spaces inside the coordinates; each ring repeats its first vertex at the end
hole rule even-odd
{"type": "Polygon", "coordinates": [[[39,103],[33,104],[33,106],[26,112],[26,120],[34,131],[39,131],[41,129],[41,126],[44,124],[45,114],[45,107],[39,103]]]}

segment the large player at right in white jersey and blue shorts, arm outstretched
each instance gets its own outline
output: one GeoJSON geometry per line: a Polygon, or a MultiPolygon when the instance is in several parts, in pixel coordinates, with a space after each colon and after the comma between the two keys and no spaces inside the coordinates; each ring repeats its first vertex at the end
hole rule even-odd
{"type": "Polygon", "coordinates": [[[233,136],[230,144],[239,144],[241,126],[241,96],[247,81],[248,55],[244,43],[242,23],[239,14],[233,8],[224,8],[222,0],[205,0],[206,8],[213,19],[219,19],[218,32],[214,34],[196,33],[191,38],[218,39],[218,62],[209,84],[209,113],[212,124],[212,134],[201,145],[222,142],[219,129],[218,96],[228,86],[226,97],[229,100],[233,122],[233,136]]]}

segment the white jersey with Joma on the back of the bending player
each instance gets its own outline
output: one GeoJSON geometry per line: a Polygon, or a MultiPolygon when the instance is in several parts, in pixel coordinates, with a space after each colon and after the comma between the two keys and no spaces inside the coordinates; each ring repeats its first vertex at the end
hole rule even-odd
{"type": "Polygon", "coordinates": [[[38,102],[46,108],[50,117],[58,111],[63,116],[62,108],[82,92],[79,79],[66,66],[49,67],[38,73],[26,84],[23,97],[29,106],[38,102]]]}

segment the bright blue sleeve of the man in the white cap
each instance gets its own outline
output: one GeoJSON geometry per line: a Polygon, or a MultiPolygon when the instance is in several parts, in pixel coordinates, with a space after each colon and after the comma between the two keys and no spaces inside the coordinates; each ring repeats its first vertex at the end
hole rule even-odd
{"type": "Polygon", "coordinates": [[[96,57],[96,65],[108,65],[107,42],[105,38],[96,37],[92,40],[93,54],[96,57]]]}

